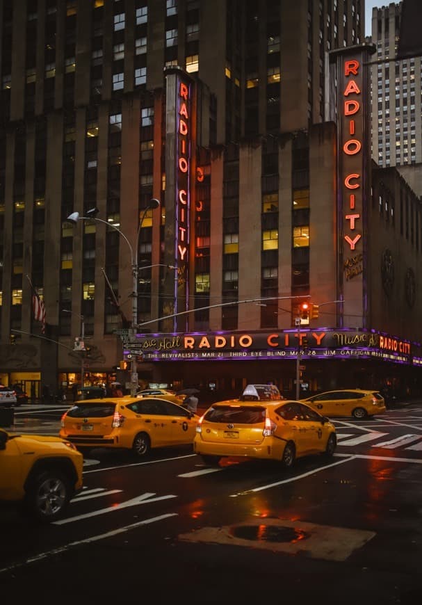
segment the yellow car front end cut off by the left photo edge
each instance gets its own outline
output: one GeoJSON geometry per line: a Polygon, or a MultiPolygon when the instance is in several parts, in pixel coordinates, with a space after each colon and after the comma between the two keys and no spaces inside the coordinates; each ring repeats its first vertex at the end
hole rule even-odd
{"type": "Polygon", "coordinates": [[[82,489],[83,455],[60,437],[0,428],[0,504],[40,522],[55,521],[82,489]]]}

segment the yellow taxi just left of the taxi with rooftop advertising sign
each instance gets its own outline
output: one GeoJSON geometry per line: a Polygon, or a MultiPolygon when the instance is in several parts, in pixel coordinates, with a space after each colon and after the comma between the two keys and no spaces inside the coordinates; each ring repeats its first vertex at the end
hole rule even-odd
{"type": "Polygon", "coordinates": [[[85,399],[61,419],[60,437],[78,449],[131,450],[138,458],[152,448],[193,443],[199,416],[154,396],[85,399]]]}

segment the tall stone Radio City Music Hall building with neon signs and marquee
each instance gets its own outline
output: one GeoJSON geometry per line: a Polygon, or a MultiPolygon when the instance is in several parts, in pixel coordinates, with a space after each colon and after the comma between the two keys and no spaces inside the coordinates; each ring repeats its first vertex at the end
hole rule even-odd
{"type": "Polygon", "coordinates": [[[42,88],[16,68],[3,90],[2,380],[79,380],[82,320],[90,382],[138,355],[149,383],[294,392],[299,354],[312,391],[416,392],[420,200],[371,161],[359,2],[326,9],[345,25],[332,39],[324,29],[323,45],[314,3],[47,4],[46,31],[53,15],[90,52],[73,64],[72,45],[58,45],[42,88]],[[112,45],[100,43],[107,28],[112,45]],[[153,197],[159,209],[145,211],[153,197]],[[114,227],[66,220],[93,207],[114,227]],[[138,245],[136,335],[125,238],[138,245]],[[48,340],[29,336],[40,325],[25,275],[48,340]],[[297,326],[303,301],[318,316],[297,326]]]}

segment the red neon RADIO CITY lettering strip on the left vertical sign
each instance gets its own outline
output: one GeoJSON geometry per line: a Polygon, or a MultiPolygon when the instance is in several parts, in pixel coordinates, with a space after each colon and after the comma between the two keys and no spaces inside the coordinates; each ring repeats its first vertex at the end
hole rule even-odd
{"type": "Polygon", "coordinates": [[[177,78],[176,258],[179,277],[186,277],[190,213],[190,84],[177,78]]]}

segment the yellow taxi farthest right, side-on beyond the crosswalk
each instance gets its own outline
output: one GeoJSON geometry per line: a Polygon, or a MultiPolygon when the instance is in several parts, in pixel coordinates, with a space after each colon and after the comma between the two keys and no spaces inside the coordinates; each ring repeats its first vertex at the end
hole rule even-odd
{"type": "Polygon", "coordinates": [[[329,418],[352,416],[363,419],[386,411],[384,397],[378,391],[338,389],[301,399],[310,408],[329,418]]]}

